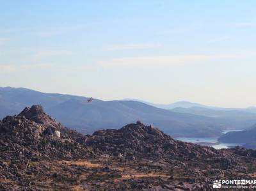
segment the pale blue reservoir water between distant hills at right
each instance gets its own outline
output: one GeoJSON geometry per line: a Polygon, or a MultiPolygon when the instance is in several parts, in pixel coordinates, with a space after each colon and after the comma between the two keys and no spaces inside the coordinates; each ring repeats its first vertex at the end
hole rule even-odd
{"type": "MultiPolygon", "coordinates": [[[[227,134],[227,132],[239,132],[242,130],[225,130],[223,131],[223,134],[227,134]]],[[[203,137],[174,137],[174,139],[184,142],[192,142],[192,143],[198,143],[205,146],[212,146],[215,149],[227,149],[232,148],[235,146],[241,146],[239,143],[223,143],[218,142],[219,137],[209,137],[209,138],[203,138],[203,137]]]]}

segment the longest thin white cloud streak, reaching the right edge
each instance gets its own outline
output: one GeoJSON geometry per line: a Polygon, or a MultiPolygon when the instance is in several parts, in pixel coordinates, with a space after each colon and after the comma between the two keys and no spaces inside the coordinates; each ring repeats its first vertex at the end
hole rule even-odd
{"type": "Polygon", "coordinates": [[[184,55],[184,56],[140,56],[119,57],[110,61],[100,61],[102,66],[175,66],[212,61],[214,59],[235,59],[239,57],[255,57],[256,52],[236,52],[220,55],[184,55]]]}

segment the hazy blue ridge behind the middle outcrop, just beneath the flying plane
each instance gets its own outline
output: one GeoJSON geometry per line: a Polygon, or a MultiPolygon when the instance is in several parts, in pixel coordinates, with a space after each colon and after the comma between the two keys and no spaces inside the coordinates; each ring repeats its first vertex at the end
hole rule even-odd
{"type": "Polygon", "coordinates": [[[218,135],[221,121],[193,114],[158,109],[145,103],[134,101],[92,102],[91,104],[69,100],[48,110],[67,126],[76,126],[79,130],[92,132],[100,128],[118,128],[136,120],[146,124],[161,126],[169,134],[193,136],[218,135]],[[69,112],[66,112],[66,111],[69,112]]]}

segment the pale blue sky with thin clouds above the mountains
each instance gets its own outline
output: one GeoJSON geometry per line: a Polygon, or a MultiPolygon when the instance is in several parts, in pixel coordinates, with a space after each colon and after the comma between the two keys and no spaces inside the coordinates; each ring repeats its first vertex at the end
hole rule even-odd
{"type": "Polygon", "coordinates": [[[256,106],[256,1],[0,4],[1,87],[256,106]]]}

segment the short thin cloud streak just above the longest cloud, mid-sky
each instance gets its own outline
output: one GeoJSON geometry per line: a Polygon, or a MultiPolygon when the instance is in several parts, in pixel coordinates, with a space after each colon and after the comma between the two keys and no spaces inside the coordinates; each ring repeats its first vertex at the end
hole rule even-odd
{"type": "Polygon", "coordinates": [[[128,43],[120,45],[110,45],[103,48],[103,51],[116,51],[116,50],[137,50],[137,49],[154,49],[160,47],[158,43],[128,43]]]}

